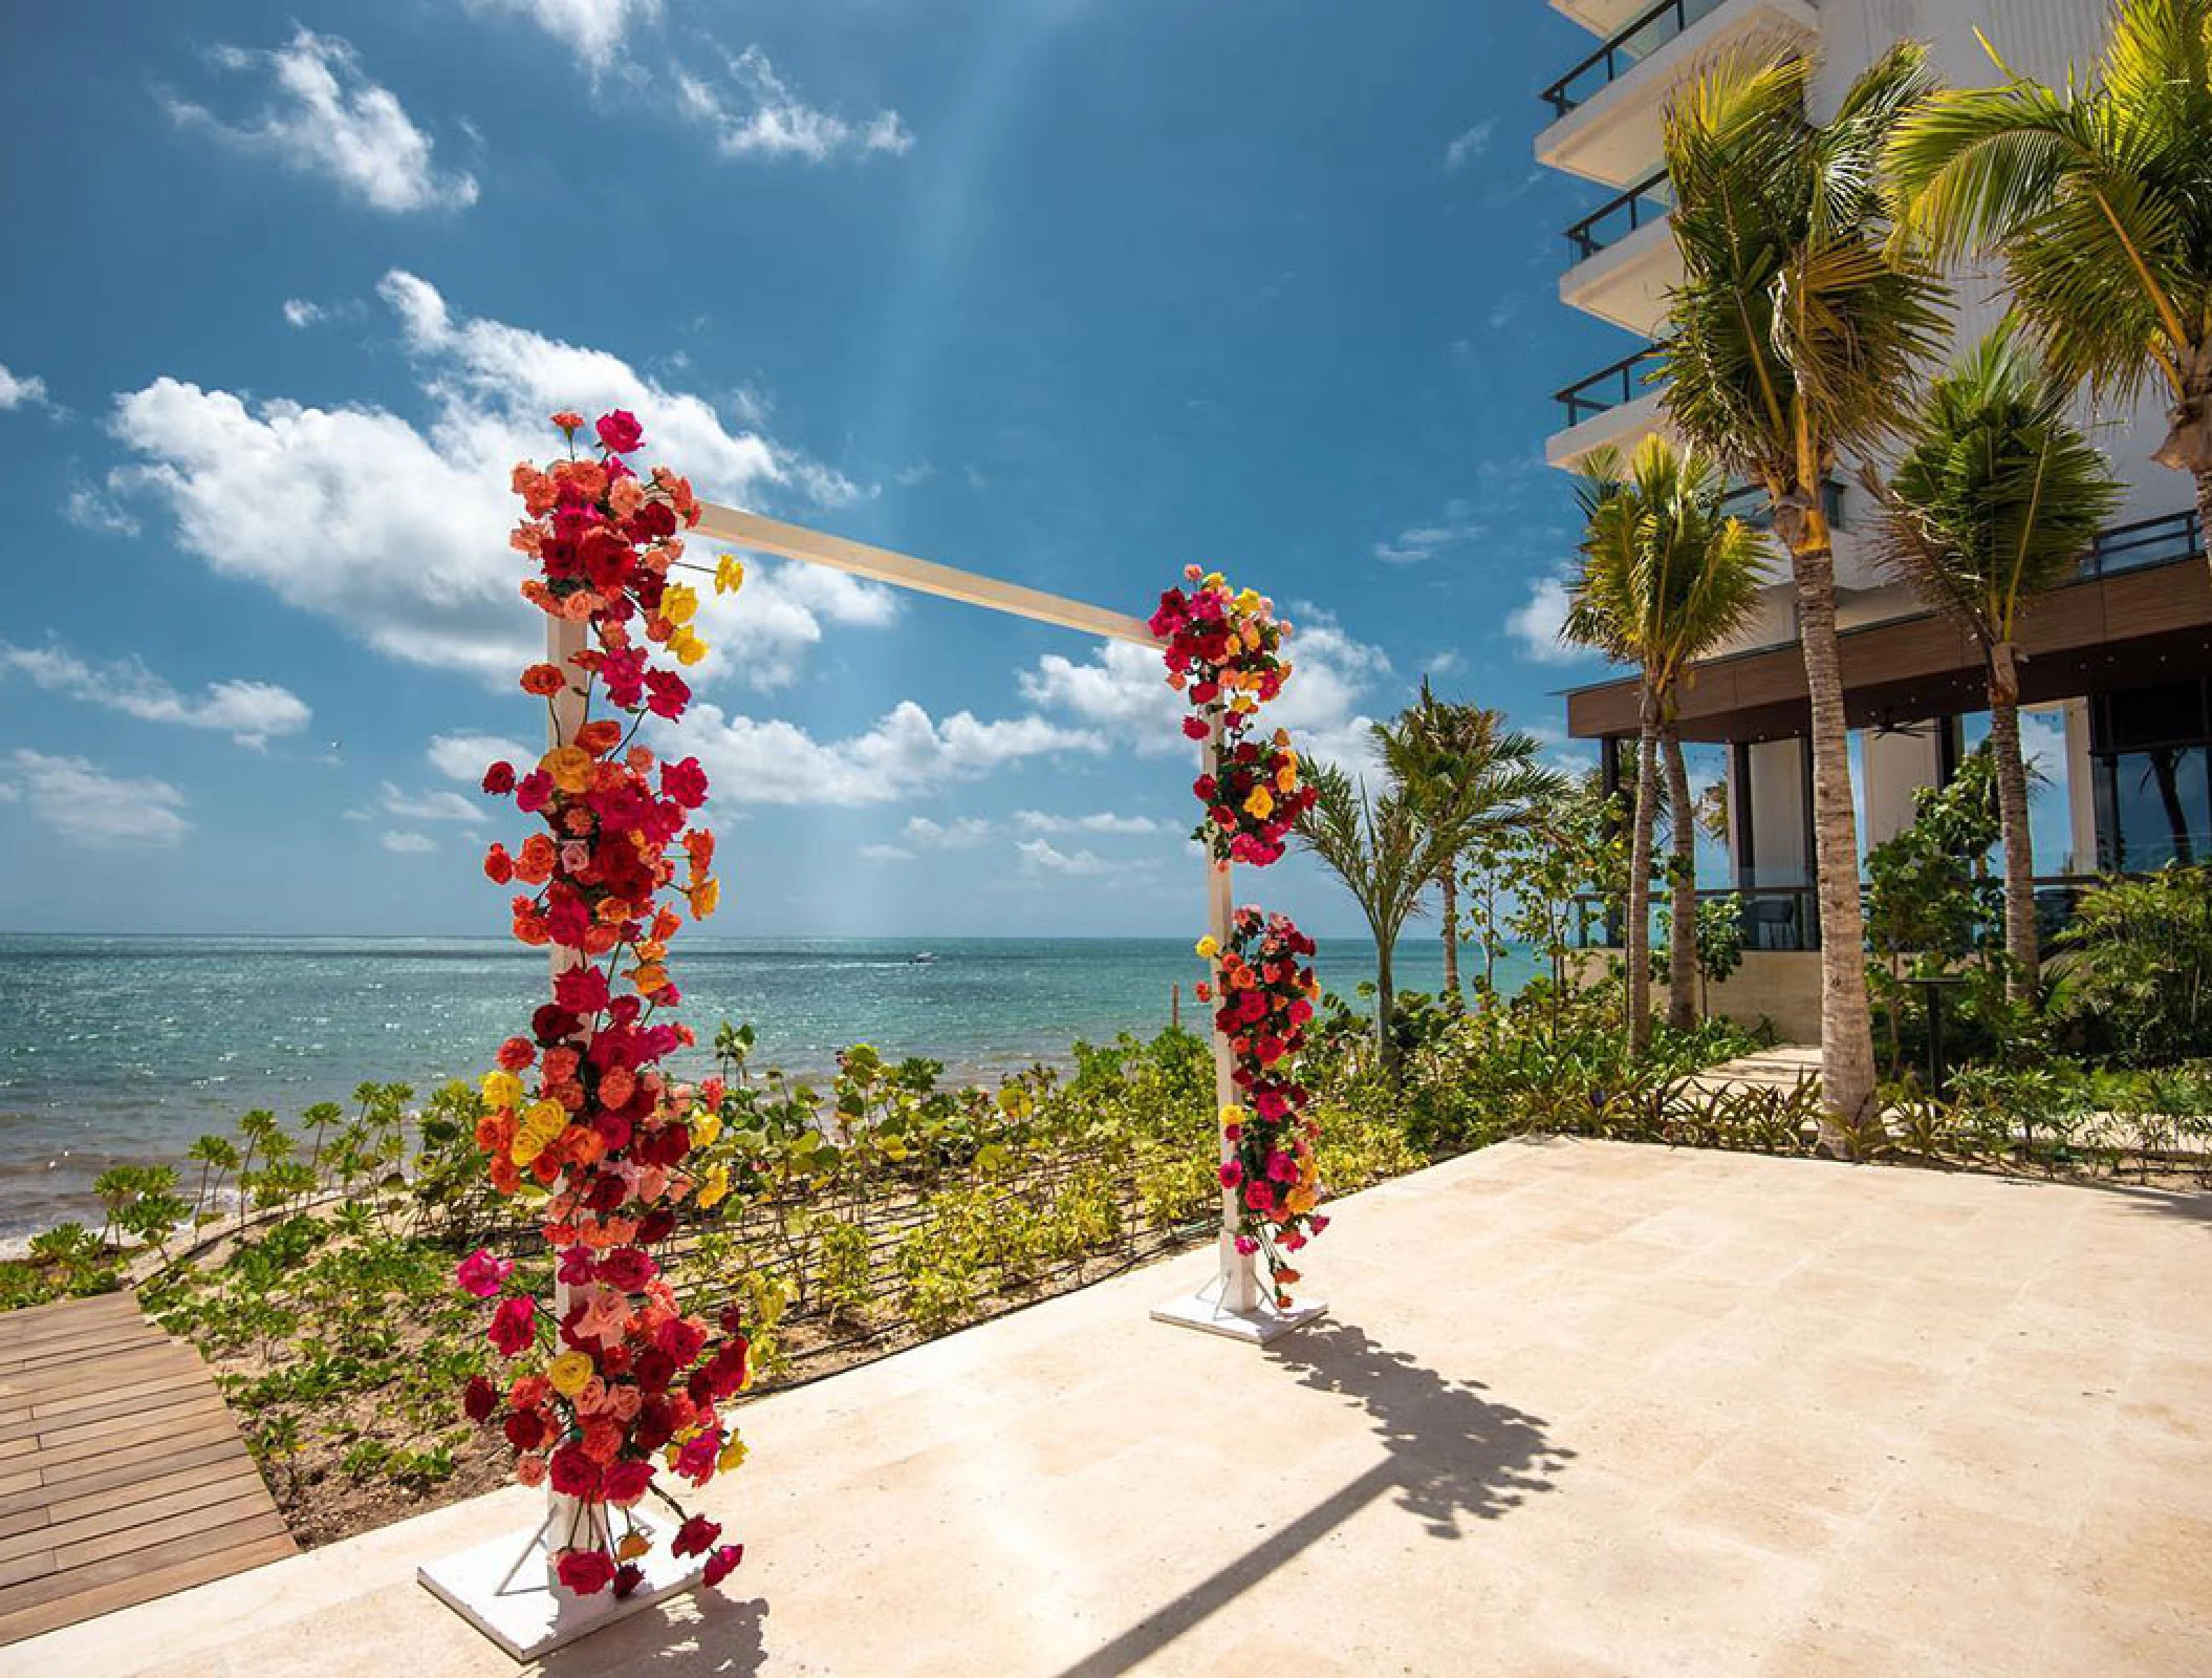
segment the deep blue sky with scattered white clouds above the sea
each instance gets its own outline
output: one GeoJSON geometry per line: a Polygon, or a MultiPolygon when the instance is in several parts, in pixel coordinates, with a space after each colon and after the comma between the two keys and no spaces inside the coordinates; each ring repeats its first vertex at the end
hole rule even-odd
{"type": "MultiPolygon", "coordinates": [[[[1557,733],[1546,7],[86,0],[7,24],[0,928],[495,932],[507,467],[624,401],[703,494],[1144,611],[1287,602],[1285,717],[1557,733]]],[[[717,934],[1186,932],[1135,649],[763,564],[706,622],[717,934]],[[918,826],[916,826],[918,824],[918,826]]],[[[1356,916],[1310,863],[1263,894],[1356,916]]]]}

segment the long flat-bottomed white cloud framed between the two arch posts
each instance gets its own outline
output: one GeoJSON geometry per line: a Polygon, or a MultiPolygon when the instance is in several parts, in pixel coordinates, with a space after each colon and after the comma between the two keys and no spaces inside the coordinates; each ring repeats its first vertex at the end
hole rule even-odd
{"type": "Polygon", "coordinates": [[[655,735],[666,750],[699,757],[717,804],[889,804],[1006,764],[1106,744],[1088,728],[1044,717],[984,722],[956,711],[933,722],[914,700],[847,739],[818,742],[796,724],[726,715],[714,704],[695,704],[681,724],[655,735]]]}

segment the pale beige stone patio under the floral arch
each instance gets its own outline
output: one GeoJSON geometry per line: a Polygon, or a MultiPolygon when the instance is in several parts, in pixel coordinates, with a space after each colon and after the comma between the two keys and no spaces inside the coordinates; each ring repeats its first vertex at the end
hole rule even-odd
{"type": "MultiPolygon", "coordinates": [[[[2212,1202],[1500,1144],[1343,1202],[1332,1317],[1179,1260],[748,1410],[750,1554],[553,1671],[2212,1671],[2212,1202]]],[[[414,1563],[507,1490],[9,1649],[493,1674],[414,1563]]]]}

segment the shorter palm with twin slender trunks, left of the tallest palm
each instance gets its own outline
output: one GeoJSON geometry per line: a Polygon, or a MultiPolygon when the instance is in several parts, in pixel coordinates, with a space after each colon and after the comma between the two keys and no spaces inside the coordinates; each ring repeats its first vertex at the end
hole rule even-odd
{"type": "Polygon", "coordinates": [[[1668,888],[1668,1025],[1697,1021],[1697,812],[1681,757],[1681,695],[1692,664],[1750,620],[1765,580],[1765,542],[1721,511],[1719,465],[1663,436],[1637,445],[1628,465],[1595,449],[1579,489],[1586,518],[1582,573],[1566,638],[1641,666],[1637,786],[1628,850],[1628,1047],[1650,1038],[1650,857],[1666,759],[1672,866],[1668,888]]]}

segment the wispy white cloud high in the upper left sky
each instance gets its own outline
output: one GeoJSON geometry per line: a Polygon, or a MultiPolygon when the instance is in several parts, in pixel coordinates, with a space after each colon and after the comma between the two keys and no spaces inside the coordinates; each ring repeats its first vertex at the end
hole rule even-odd
{"type": "Polygon", "coordinates": [[[217,46],[208,58],[226,71],[268,71],[270,104],[248,122],[223,122],[201,104],[164,95],[168,115],[181,126],[268,153],[301,175],[325,175],[392,215],[476,204],[476,177],[434,166],[431,137],[392,89],[363,73],[361,58],[341,38],[296,29],[288,46],[265,53],[217,46]]]}

